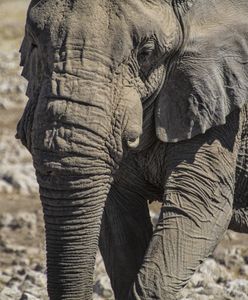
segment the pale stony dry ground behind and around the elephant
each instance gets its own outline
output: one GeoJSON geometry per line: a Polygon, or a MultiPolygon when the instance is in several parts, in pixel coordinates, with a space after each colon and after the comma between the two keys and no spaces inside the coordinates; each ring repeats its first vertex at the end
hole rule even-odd
{"type": "MultiPolygon", "coordinates": [[[[27,101],[18,48],[28,3],[0,0],[0,300],[47,299],[38,187],[30,155],[14,138],[27,101]]],[[[100,255],[94,299],[114,299],[100,255]]],[[[228,232],[179,299],[248,300],[248,236],[228,232]]]]}

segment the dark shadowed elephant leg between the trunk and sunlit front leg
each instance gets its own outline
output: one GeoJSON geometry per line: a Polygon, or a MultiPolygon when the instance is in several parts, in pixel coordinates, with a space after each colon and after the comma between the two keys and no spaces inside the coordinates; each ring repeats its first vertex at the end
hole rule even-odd
{"type": "Polygon", "coordinates": [[[127,300],[152,235],[146,199],[114,184],[105,205],[100,250],[115,293],[127,300]]]}

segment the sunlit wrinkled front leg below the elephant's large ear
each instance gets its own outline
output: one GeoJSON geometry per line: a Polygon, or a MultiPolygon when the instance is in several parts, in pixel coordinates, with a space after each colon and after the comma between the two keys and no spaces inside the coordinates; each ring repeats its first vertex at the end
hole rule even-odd
{"type": "Polygon", "coordinates": [[[168,145],[163,207],[129,300],[174,300],[225,233],[238,147],[232,122],[168,145]]]}

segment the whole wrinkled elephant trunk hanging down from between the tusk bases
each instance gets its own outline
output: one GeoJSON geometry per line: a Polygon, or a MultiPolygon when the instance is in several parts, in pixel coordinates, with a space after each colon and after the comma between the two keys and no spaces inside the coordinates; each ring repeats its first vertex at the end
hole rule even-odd
{"type": "Polygon", "coordinates": [[[46,227],[48,293],[50,300],[87,300],[103,207],[122,154],[121,126],[113,124],[99,85],[57,77],[52,93],[47,86],[36,108],[31,151],[46,227]]]}

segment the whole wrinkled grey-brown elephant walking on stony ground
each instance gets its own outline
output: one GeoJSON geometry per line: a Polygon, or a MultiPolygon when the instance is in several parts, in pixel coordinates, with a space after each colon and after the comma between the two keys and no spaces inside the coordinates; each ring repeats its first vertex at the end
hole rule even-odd
{"type": "Polygon", "coordinates": [[[100,247],[115,299],[174,300],[248,232],[248,2],[31,0],[20,52],[50,299],[92,299],[100,247]]]}

